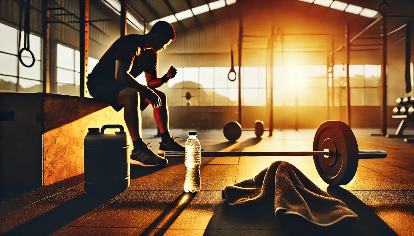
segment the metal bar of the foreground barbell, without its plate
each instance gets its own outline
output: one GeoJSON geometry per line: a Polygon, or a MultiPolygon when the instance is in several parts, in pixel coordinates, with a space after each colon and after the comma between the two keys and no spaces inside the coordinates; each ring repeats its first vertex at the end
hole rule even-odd
{"type": "MultiPolygon", "coordinates": [[[[318,156],[328,155],[328,152],[201,152],[201,157],[275,157],[275,156],[318,156]]],[[[165,152],[168,159],[182,159],[184,152],[165,152]]],[[[387,157],[385,150],[360,150],[358,159],[381,159],[387,157]]]]}

